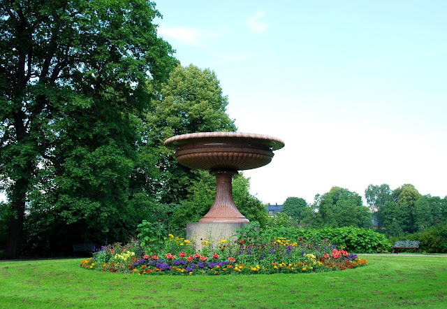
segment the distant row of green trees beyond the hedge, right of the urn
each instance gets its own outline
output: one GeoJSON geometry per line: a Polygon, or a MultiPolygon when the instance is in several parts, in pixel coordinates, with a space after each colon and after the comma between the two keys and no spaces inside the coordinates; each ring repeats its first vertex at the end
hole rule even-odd
{"type": "Polygon", "coordinates": [[[316,229],[374,226],[387,236],[421,232],[447,222],[447,196],[441,199],[421,195],[413,185],[394,190],[386,184],[369,185],[365,199],[368,207],[363,206],[362,197],[356,192],[332,187],[328,193],[317,194],[312,204],[288,197],[279,217],[282,216],[283,224],[316,229]]]}

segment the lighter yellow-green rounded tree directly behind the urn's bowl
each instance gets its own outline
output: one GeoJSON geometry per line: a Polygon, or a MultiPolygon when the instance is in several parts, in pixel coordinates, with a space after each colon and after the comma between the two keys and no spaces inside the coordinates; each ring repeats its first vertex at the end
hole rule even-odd
{"type": "Polygon", "coordinates": [[[226,114],[228,99],[222,94],[219,80],[209,69],[200,70],[192,64],[177,66],[169,80],[152,92],[156,99],[146,117],[147,147],[157,148],[157,166],[163,177],[154,186],[160,186],[157,194],[162,203],[179,203],[191,193],[189,188],[198,179],[198,171],[177,164],[174,151],[163,142],[178,134],[237,128],[226,114]]]}

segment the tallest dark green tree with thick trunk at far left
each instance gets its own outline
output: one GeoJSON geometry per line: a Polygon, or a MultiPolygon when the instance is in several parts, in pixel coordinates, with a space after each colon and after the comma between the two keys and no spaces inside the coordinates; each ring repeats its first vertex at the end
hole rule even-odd
{"type": "MultiPolygon", "coordinates": [[[[117,163],[112,174],[129,175],[130,153],[112,158],[122,150],[115,150],[114,134],[129,128],[133,122],[129,114],[138,115],[147,106],[148,78],[154,84],[163,81],[177,62],[170,45],[156,36],[152,20],[160,14],[149,1],[1,1],[0,14],[0,189],[6,190],[10,215],[5,252],[17,257],[24,211],[32,206],[33,191],[61,186],[73,198],[62,196],[59,203],[68,202],[72,210],[115,213],[89,198],[75,201],[68,191],[87,187],[75,182],[62,186],[64,175],[77,171],[70,179],[82,179],[96,160],[103,166],[117,163]],[[110,120],[112,124],[107,124],[110,120]],[[80,146],[78,136],[71,134],[73,127],[84,134],[80,146]],[[55,173],[61,175],[58,183],[52,177],[55,173]]],[[[97,173],[87,177],[92,175],[97,173]]],[[[112,201],[113,189],[125,185],[123,181],[103,188],[101,194],[112,201]]],[[[119,196],[118,203],[123,199],[119,196]]],[[[80,213],[75,213],[61,216],[76,220],[80,213]]]]}

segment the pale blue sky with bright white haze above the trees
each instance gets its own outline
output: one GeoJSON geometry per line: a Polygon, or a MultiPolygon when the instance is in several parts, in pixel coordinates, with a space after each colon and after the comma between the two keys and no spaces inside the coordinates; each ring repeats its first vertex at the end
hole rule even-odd
{"type": "Polygon", "coordinates": [[[368,185],[447,196],[447,1],[156,1],[183,66],[211,69],[240,132],[281,138],[244,171],[264,203],[368,185]]]}

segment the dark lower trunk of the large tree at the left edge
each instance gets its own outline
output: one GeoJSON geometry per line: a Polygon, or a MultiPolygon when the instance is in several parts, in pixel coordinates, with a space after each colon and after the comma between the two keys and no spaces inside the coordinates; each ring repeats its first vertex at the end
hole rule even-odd
{"type": "Polygon", "coordinates": [[[6,257],[17,259],[22,241],[23,219],[25,212],[25,197],[27,180],[20,178],[15,183],[13,194],[13,214],[10,216],[8,226],[8,238],[6,238],[6,257]]]}

